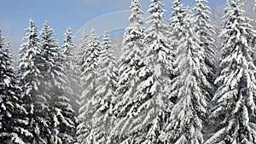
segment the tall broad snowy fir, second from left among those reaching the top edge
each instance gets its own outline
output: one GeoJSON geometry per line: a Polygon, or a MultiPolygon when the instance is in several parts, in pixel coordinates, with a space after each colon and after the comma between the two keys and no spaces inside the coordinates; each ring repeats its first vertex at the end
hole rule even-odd
{"type": "Polygon", "coordinates": [[[126,130],[133,134],[125,139],[126,143],[159,143],[166,115],[172,109],[169,95],[174,54],[167,38],[168,26],[163,21],[164,4],[161,0],[151,2],[147,18],[151,26],[146,31],[143,49],[144,66],[138,72],[141,83],[132,97],[128,117],[121,127],[121,132],[126,130]]]}

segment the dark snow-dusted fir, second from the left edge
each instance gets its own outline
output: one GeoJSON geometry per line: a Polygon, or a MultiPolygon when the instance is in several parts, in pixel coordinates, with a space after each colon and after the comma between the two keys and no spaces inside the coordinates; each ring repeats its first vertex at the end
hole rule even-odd
{"type": "Polygon", "coordinates": [[[41,73],[43,67],[42,49],[38,38],[38,27],[34,20],[29,21],[26,29],[25,43],[20,46],[19,72],[20,85],[22,85],[21,97],[30,118],[29,125],[32,132],[33,143],[46,143],[49,130],[49,107],[47,99],[40,92],[41,82],[44,76],[41,73]]]}

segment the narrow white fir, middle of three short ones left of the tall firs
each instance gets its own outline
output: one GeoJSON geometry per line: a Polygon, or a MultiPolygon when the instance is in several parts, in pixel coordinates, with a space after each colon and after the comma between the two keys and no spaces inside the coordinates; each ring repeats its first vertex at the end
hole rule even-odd
{"type": "MultiPolygon", "coordinates": [[[[86,38],[86,37],[84,37],[86,38]]],[[[93,143],[93,137],[90,136],[92,122],[91,118],[96,112],[93,107],[96,95],[96,78],[97,78],[97,63],[101,51],[101,43],[96,37],[96,31],[92,28],[90,32],[90,40],[88,47],[84,47],[84,55],[81,72],[81,84],[83,93],[81,96],[81,107],[79,109],[79,126],[78,126],[78,142],[93,143]]]]}

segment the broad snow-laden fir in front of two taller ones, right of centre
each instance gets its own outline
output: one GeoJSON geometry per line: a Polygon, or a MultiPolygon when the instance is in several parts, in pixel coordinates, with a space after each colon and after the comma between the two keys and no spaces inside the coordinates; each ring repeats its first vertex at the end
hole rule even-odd
{"type": "Polygon", "coordinates": [[[207,116],[207,66],[201,39],[195,33],[192,14],[183,20],[185,35],[177,46],[176,73],[172,81],[172,97],[177,96],[161,138],[166,143],[201,144],[203,122],[207,116]]]}

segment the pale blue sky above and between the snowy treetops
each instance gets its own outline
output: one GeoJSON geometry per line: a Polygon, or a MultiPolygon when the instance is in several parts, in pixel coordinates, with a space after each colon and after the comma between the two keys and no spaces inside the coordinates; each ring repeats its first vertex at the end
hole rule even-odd
{"type": "MultiPolygon", "coordinates": [[[[148,9],[149,3],[149,0],[141,0],[143,10],[148,9]]],[[[166,4],[166,20],[168,20],[172,0],[163,0],[163,3],[166,4]]],[[[183,0],[183,3],[191,5],[194,0],[183,0]]],[[[225,0],[209,0],[212,9],[222,8],[224,3],[225,0]]],[[[98,25],[96,27],[107,30],[115,23],[123,22],[121,25],[125,26],[125,23],[128,25],[129,11],[119,12],[129,10],[130,4],[130,0],[1,0],[0,27],[4,35],[10,37],[13,51],[17,53],[21,39],[26,33],[24,29],[27,28],[28,20],[31,18],[35,20],[39,30],[44,20],[48,20],[49,26],[55,29],[56,38],[61,43],[63,33],[68,26],[72,27],[75,34],[86,24],[98,25]],[[96,21],[104,14],[109,16],[106,22],[96,21]]]]}

